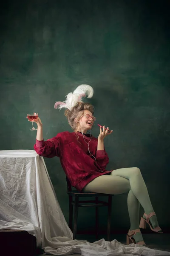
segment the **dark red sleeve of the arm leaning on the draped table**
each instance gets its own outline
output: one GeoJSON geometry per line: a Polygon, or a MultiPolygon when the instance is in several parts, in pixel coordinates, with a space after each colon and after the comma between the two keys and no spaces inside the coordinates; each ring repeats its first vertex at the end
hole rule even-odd
{"type": "Polygon", "coordinates": [[[60,157],[62,154],[62,143],[57,136],[46,141],[36,140],[34,150],[41,157],[60,157]]]}

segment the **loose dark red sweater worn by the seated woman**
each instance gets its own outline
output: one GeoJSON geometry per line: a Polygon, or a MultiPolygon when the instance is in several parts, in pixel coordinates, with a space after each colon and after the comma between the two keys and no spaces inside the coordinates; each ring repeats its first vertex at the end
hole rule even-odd
{"type": "Polygon", "coordinates": [[[83,135],[79,132],[64,131],[49,140],[36,140],[34,149],[42,157],[59,157],[63,170],[70,180],[71,186],[77,190],[82,189],[96,177],[108,175],[105,170],[109,158],[105,150],[97,150],[97,139],[83,135]],[[85,140],[85,141],[84,141],[85,140]],[[90,141],[90,143],[89,143],[90,141]],[[91,156],[88,151],[96,158],[91,156]]]}

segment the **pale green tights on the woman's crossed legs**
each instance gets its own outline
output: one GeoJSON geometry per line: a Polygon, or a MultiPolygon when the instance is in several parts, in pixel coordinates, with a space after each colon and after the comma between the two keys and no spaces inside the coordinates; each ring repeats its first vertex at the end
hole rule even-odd
{"type": "MultiPolygon", "coordinates": [[[[130,218],[130,230],[139,228],[140,204],[146,214],[154,212],[146,184],[139,168],[136,167],[117,169],[111,172],[111,175],[96,177],[85,186],[83,192],[98,192],[112,195],[128,192],[127,207],[130,218]]],[[[150,218],[150,223],[153,228],[159,226],[156,215],[150,218]]],[[[137,233],[133,238],[136,243],[143,240],[141,233],[137,233]]]]}

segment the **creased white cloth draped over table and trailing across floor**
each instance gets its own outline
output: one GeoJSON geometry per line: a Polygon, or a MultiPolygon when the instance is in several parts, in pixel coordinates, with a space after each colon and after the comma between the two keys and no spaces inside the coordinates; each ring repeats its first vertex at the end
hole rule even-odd
{"type": "MultiPolygon", "coordinates": [[[[44,160],[33,150],[0,151],[0,230],[26,230],[52,255],[155,256],[170,252],[104,239],[90,243],[73,234],[59,207],[44,160]]],[[[9,241],[10,242],[10,241],[9,241]]]]}

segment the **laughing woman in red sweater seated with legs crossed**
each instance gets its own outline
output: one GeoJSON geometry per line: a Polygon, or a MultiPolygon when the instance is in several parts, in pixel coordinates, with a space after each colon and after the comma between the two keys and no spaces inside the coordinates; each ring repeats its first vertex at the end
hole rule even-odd
{"type": "Polygon", "coordinates": [[[88,98],[93,95],[93,88],[89,85],[80,85],[67,95],[65,102],[57,102],[55,107],[66,108],[65,116],[74,132],[61,132],[56,137],[47,141],[43,140],[42,122],[37,123],[37,139],[34,149],[42,157],[59,157],[66,176],[80,192],[98,192],[118,195],[128,192],[127,207],[130,217],[130,230],[127,234],[127,244],[145,245],[139,230],[139,205],[144,208],[140,227],[146,223],[151,230],[161,232],[156,214],[153,210],[147,187],[142,174],[137,167],[116,169],[108,172],[105,168],[108,164],[108,154],[105,151],[104,139],[111,135],[109,128],[100,127],[99,136],[96,139],[87,131],[94,125],[96,118],[94,107],[89,103],[83,103],[81,98],[88,93],[88,98]]]}

